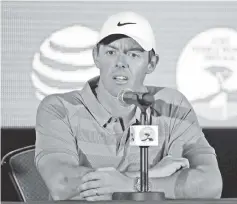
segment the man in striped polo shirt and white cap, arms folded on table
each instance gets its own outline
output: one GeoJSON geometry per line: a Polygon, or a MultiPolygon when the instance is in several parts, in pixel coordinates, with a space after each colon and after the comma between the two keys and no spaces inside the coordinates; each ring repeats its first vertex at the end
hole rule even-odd
{"type": "Polygon", "coordinates": [[[147,110],[159,126],[159,146],[149,148],[150,190],[167,198],[219,198],[222,179],[214,149],[194,110],[177,90],[143,85],[158,63],[148,21],[133,12],[111,16],[93,49],[100,77],[84,88],[47,96],[36,122],[35,163],[54,200],[109,200],[138,191],[139,147],[129,127],[139,108],[117,99],[125,89],[150,92],[147,110]]]}

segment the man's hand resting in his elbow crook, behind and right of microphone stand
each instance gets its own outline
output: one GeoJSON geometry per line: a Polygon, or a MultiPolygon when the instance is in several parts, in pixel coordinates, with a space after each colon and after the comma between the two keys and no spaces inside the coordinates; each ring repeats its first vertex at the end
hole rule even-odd
{"type": "MultiPolygon", "coordinates": [[[[174,158],[170,155],[164,157],[158,164],[149,169],[150,178],[171,176],[180,169],[189,168],[189,161],[186,158],[174,158]]],[[[140,172],[126,172],[129,177],[138,177],[140,172]]]]}

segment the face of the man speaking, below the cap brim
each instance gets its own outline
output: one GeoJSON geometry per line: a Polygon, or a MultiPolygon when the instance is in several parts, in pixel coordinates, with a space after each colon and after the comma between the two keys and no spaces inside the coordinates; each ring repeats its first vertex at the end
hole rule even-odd
{"type": "Polygon", "coordinates": [[[142,91],[148,71],[149,53],[132,38],[100,45],[96,56],[100,80],[113,96],[123,89],[142,91]]]}

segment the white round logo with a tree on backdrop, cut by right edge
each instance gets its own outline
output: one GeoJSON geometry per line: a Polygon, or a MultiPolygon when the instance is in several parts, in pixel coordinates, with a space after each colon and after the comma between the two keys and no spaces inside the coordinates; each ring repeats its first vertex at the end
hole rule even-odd
{"type": "Polygon", "coordinates": [[[213,28],[195,36],[179,57],[176,82],[197,115],[237,117],[237,31],[213,28]]]}

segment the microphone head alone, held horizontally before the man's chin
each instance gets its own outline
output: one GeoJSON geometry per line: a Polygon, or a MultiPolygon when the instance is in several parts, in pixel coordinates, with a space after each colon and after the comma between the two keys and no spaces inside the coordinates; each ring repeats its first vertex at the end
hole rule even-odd
{"type": "Polygon", "coordinates": [[[147,93],[134,92],[129,89],[122,90],[118,94],[117,98],[123,105],[134,104],[134,105],[150,106],[155,101],[154,96],[148,92],[147,93]]]}

